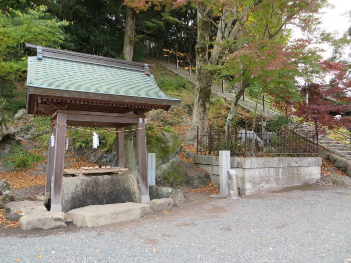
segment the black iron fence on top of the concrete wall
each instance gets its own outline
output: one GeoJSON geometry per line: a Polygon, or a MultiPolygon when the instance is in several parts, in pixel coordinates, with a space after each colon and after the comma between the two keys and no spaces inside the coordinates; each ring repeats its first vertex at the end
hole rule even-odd
{"type": "Polygon", "coordinates": [[[237,127],[229,132],[202,129],[197,134],[197,154],[219,155],[230,150],[231,156],[318,156],[318,136],[314,131],[252,132],[237,127]]]}

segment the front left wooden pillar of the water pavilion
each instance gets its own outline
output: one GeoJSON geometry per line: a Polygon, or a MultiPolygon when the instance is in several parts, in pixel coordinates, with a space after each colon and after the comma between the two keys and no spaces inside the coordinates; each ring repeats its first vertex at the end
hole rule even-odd
{"type": "Polygon", "coordinates": [[[50,211],[62,211],[62,181],[63,165],[65,159],[65,140],[66,140],[66,121],[67,113],[58,112],[56,117],[56,136],[55,136],[55,156],[54,156],[54,177],[51,186],[51,209],[50,211]]]}

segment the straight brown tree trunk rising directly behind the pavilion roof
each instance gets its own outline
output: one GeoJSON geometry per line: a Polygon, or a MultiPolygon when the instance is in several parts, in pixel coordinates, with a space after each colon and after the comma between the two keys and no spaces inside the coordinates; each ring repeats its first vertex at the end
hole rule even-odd
{"type": "Polygon", "coordinates": [[[123,58],[128,61],[133,60],[134,34],[135,34],[134,11],[130,7],[127,7],[127,14],[125,16],[123,58]]]}

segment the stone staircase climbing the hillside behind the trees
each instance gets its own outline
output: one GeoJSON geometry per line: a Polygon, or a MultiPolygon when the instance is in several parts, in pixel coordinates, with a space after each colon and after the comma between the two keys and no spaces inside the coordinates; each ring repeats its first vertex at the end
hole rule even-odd
{"type": "MultiPolygon", "coordinates": [[[[178,75],[188,79],[189,81],[191,81],[194,84],[196,83],[195,75],[192,74],[191,76],[189,76],[189,71],[186,71],[182,67],[179,67],[177,69],[177,66],[174,63],[169,62],[169,64],[168,64],[166,61],[163,61],[163,60],[156,60],[156,59],[153,59],[153,60],[155,62],[161,64],[162,66],[166,67],[168,70],[172,71],[173,73],[178,74],[178,75]]],[[[212,84],[211,90],[212,90],[213,97],[223,98],[224,100],[226,100],[229,103],[231,103],[235,97],[235,94],[229,93],[227,91],[225,93],[222,93],[222,89],[214,84],[212,84]]],[[[240,105],[240,107],[242,107],[246,110],[249,110],[249,111],[254,111],[255,107],[256,107],[256,103],[252,100],[247,99],[247,98],[245,98],[244,101],[242,99],[240,99],[238,104],[240,105]]],[[[266,115],[267,117],[274,117],[274,116],[280,115],[280,113],[273,111],[272,109],[266,108],[265,111],[263,111],[262,106],[259,104],[257,105],[256,112],[258,114],[266,115]]],[[[303,127],[297,128],[297,132],[299,132],[299,131],[301,132],[302,130],[314,131],[314,128],[311,128],[308,126],[303,126],[303,127]]],[[[319,146],[324,148],[326,151],[331,152],[333,154],[337,154],[343,158],[346,158],[347,160],[351,160],[351,146],[350,145],[346,145],[346,144],[343,144],[339,141],[333,140],[326,135],[319,135],[318,139],[319,139],[318,140],[319,146]]]]}

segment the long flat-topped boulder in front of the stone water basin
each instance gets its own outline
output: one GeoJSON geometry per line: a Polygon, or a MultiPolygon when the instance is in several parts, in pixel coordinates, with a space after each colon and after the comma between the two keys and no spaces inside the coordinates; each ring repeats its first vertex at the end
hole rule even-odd
{"type": "Polygon", "coordinates": [[[118,203],[89,205],[69,211],[67,214],[77,226],[99,226],[111,223],[128,222],[151,213],[149,204],[118,203]]]}

